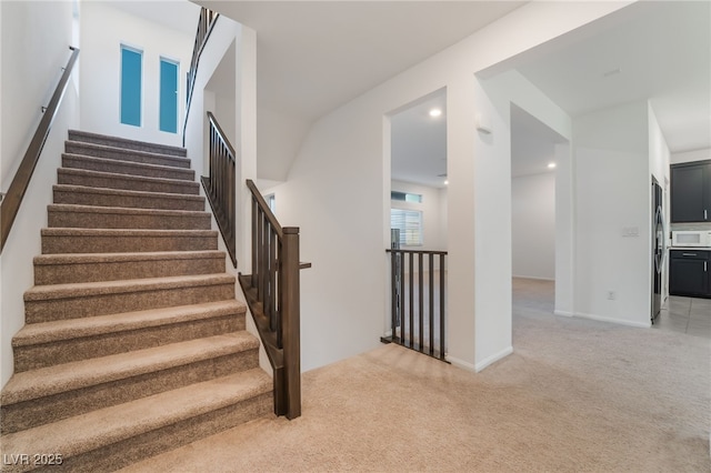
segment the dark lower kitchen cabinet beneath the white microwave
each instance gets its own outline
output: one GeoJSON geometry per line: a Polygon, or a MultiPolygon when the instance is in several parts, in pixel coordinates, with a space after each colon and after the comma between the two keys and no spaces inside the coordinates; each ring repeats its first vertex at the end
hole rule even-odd
{"type": "Polygon", "coordinates": [[[669,259],[669,293],[711,298],[711,251],[671,250],[669,259]]]}

